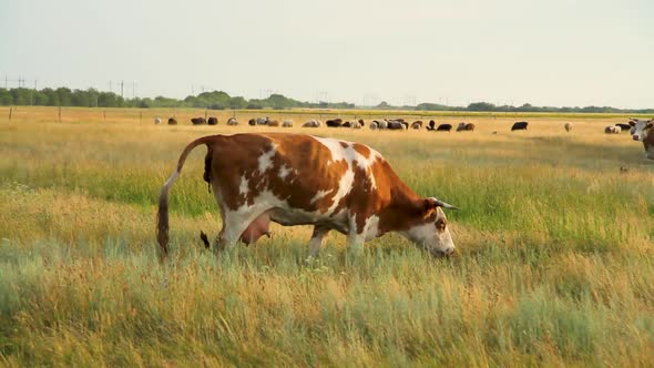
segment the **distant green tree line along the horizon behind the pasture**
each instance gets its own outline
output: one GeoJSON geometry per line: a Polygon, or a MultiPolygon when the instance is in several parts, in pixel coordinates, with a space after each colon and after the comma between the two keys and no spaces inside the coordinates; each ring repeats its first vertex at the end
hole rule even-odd
{"type": "MultiPolygon", "coordinates": [[[[80,106],[80,108],[194,108],[211,110],[243,110],[243,109],[356,109],[348,102],[303,102],[289,99],[283,94],[270,94],[266,99],[249,99],[231,96],[223,91],[203,92],[188,95],[184,100],[165,96],[124,99],[113,92],[101,92],[95,89],[71,90],[58,89],[0,89],[0,105],[38,105],[38,106],[80,106]]],[[[378,105],[368,106],[374,110],[416,110],[416,111],[484,111],[484,112],[552,112],[552,113],[654,113],[654,109],[616,109],[611,106],[574,106],[553,108],[533,106],[525,103],[521,106],[494,105],[488,102],[473,102],[468,106],[448,106],[437,103],[420,103],[416,106],[394,106],[382,101],[378,105]]]]}

